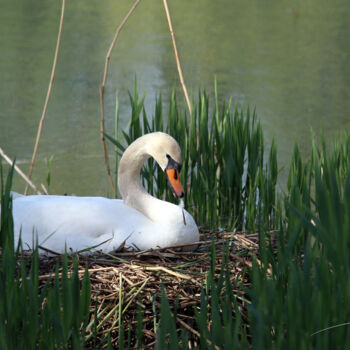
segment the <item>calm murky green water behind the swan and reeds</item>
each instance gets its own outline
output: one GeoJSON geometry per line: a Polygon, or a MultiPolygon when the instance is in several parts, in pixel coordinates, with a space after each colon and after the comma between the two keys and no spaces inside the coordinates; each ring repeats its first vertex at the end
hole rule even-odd
{"type": "MultiPolygon", "coordinates": [[[[350,3],[310,1],[171,2],[187,87],[255,107],[266,144],[275,138],[279,166],[294,141],[306,155],[311,129],[328,140],[350,127],[350,3]]],[[[99,137],[105,56],[130,1],[67,1],[62,45],[33,181],[51,193],[110,195],[99,137]]],[[[60,2],[0,1],[0,147],[28,171],[51,73],[60,2]]],[[[162,2],[142,1],[121,32],[106,87],[106,126],[113,134],[115,95],[121,124],[137,77],[150,114],[179,79],[162,2]]],[[[179,90],[180,92],[180,90],[179,90]]],[[[23,191],[19,177],[15,189],[23,191]]]]}

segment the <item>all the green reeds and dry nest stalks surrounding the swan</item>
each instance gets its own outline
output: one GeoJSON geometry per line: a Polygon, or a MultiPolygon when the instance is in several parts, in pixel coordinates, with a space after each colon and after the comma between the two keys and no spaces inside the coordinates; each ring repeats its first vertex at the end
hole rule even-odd
{"type": "MultiPolygon", "coordinates": [[[[164,130],[183,150],[185,205],[201,225],[195,252],[163,249],[41,261],[13,247],[12,171],[1,176],[1,348],[328,349],[350,345],[350,137],[327,151],[294,148],[276,193],[274,142],[255,113],[211,111],[200,93],[191,120],[172,94],[149,119],[137,89],[121,151],[164,130]],[[50,276],[50,277],[49,277],[50,276]],[[90,277],[89,277],[90,276],[90,277]]],[[[118,128],[117,128],[118,129],[118,128]]],[[[148,191],[171,200],[152,160],[148,191]]]]}

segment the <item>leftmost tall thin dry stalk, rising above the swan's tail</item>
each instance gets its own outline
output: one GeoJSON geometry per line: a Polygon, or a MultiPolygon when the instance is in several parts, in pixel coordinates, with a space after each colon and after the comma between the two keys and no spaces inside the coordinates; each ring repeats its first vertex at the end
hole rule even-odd
{"type": "MultiPolygon", "coordinates": [[[[50,95],[51,95],[53,80],[55,78],[55,71],[56,71],[58,51],[59,51],[60,43],[61,43],[61,34],[62,34],[62,26],[63,26],[63,17],[64,17],[65,5],[66,5],[66,0],[62,0],[61,19],[60,19],[60,25],[59,25],[59,29],[58,29],[58,35],[57,35],[57,44],[56,44],[55,57],[54,57],[54,60],[53,60],[52,71],[51,71],[51,78],[50,78],[50,82],[49,82],[49,88],[48,88],[47,94],[46,94],[46,100],[45,100],[45,104],[44,104],[44,109],[43,109],[43,113],[42,113],[41,118],[40,118],[39,127],[38,127],[38,133],[36,135],[35,146],[34,146],[34,151],[33,151],[33,156],[32,156],[32,162],[30,164],[30,169],[29,169],[29,173],[28,173],[28,178],[29,179],[31,179],[31,177],[32,177],[33,168],[34,168],[34,162],[35,162],[36,154],[38,152],[38,147],[39,147],[39,140],[40,140],[40,136],[41,136],[41,131],[42,131],[42,128],[43,128],[43,123],[44,123],[44,119],[45,119],[45,115],[46,115],[46,111],[47,111],[47,106],[48,106],[50,95]]],[[[28,192],[28,185],[26,186],[26,188],[24,190],[24,194],[26,195],[27,192],[28,192]]]]}

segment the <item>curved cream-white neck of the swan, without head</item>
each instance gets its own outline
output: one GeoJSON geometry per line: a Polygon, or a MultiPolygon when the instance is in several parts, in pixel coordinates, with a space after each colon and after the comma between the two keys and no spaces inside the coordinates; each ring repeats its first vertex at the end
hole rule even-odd
{"type": "Polygon", "coordinates": [[[159,221],[159,209],[165,203],[147,193],[140,178],[141,168],[150,156],[147,144],[142,139],[132,143],[119,163],[118,187],[126,205],[138,210],[151,221],[159,221]]]}

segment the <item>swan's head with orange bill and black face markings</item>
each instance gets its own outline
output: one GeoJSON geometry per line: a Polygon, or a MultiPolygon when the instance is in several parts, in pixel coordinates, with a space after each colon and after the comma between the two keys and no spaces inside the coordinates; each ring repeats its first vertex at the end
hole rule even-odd
{"type": "Polygon", "coordinates": [[[184,196],[180,182],[181,149],[176,140],[168,134],[157,132],[152,135],[148,143],[149,154],[165,171],[173,194],[177,198],[184,196]]]}

